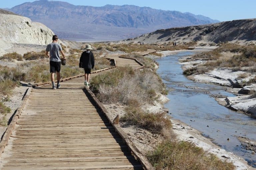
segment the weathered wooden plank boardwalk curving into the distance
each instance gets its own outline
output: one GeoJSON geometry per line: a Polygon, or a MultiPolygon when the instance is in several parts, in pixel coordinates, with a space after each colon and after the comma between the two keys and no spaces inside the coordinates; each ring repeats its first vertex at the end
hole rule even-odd
{"type": "MultiPolygon", "coordinates": [[[[117,66],[141,67],[135,60],[108,57],[116,59],[117,66]]],[[[31,90],[0,169],[143,169],[83,82],[78,77],[61,82],[61,89],[45,85],[31,90]]]]}

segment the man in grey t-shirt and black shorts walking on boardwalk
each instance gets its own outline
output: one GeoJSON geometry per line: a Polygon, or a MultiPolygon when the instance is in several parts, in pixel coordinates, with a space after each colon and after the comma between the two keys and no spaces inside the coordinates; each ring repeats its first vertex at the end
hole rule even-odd
{"type": "Polygon", "coordinates": [[[45,54],[50,58],[50,73],[51,73],[51,81],[52,81],[52,89],[56,89],[54,82],[54,74],[57,72],[57,89],[60,88],[60,66],[61,59],[60,53],[65,59],[65,55],[62,51],[62,48],[58,42],[58,36],[54,35],[52,37],[52,43],[48,44],[46,47],[45,54]],[[60,53],[59,53],[60,51],[60,53]]]}

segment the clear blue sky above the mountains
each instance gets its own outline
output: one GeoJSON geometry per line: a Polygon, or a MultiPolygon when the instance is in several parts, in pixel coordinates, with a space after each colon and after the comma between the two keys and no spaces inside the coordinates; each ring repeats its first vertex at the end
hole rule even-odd
{"type": "MultiPolygon", "coordinates": [[[[1,0],[0,8],[11,8],[24,2],[35,0],[1,0]]],[[[104,6],[111,5],[136,5],[155,9],[190,12],[204,15],[219,21],[256,18],[256,0],[59,0],[74,5],[104,6]]]]}

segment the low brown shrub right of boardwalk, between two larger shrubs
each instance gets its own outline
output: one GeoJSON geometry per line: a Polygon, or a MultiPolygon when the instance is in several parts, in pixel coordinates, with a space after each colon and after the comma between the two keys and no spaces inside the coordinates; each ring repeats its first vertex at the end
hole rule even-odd
{"type": "Polygon", "coordinates": [[[129,125],[135,125],[149,130],[155,134],[165,134],[166,129],[171,130],[172,123],[165,119],[165,113],[147,113],[140,108],[128,107],[125,109],[125,115],[120,121],[129,125]]]}

